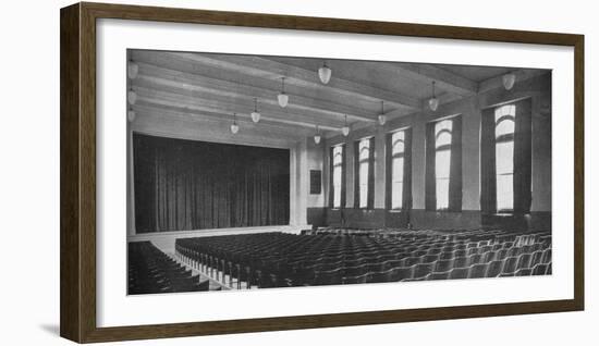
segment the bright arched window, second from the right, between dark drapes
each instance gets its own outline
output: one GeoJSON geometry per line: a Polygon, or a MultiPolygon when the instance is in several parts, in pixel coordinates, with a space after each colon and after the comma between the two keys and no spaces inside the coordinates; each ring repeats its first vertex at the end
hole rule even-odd
{"type": "Polygon", "coordinates": [[[437,210],[449,208],[449,184],[453,122],[443,120],[435,124],[435,180],[437,210]]]}

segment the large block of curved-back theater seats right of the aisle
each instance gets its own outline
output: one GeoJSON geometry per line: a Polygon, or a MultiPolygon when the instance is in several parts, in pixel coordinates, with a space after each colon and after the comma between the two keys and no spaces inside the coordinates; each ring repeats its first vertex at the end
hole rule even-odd
{"type": "Polygon", "coordinates": [[[175,250],[190,265],[237,288],[241,282],[247,287],[285,287],[551,273],[549,232],[398,233],[182,238],[175,250]]]}

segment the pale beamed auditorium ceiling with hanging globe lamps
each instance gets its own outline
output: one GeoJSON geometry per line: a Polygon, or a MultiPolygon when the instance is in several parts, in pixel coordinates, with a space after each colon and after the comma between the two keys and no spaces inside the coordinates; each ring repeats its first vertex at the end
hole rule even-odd
{"type": "Polygon", "coordinates": [[[418,112],[428,107],[432,81],[440,103],[469,97],[501,86],[502,76],[531,70],[476,67],[396,62],[322,60],[284,57],[253,57],[131,50],[130,60],[138,73],[130,79],[138,114],[193,118],[269,128],[281,136],[310,136],[318,125],[325,136],[350,127],[376,123],[381,101],[387,119],[418,112]],[[332,70],[328,84],[320,82],[318,69],[332,70]],[[282,108],[277,96],[284,91],[289,104],[282,108]],[[250,113],[257,100],[261,114],[253,124],[250,113]]]}

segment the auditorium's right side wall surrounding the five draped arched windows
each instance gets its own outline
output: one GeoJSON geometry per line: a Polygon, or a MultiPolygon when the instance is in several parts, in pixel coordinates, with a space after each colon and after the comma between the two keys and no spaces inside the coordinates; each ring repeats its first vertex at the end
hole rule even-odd
{"type": "Polygon", "coordinates": [[[389,121],[384,126],[372,125],[352,131],[350,136],[329,138],[321,150],[323,157],[325,196],[328,196],[329,168],[328,150],[330,146],[346,143],[349,148],[355,140],[376,137],[375,165],[375,209],[354,208],[354,157],[347,150],[346,196],[347,205],[343,210],[327,208],[326,201],[319,205],[325,210],[322,225],[340,225],[342,217],[350,227],[393,227],[404,226],[407,218],[417,228],[435,227],[477,227],[489,223],[511,223],[528,226],[550,226],[551,218],[551,74],[550,72],[517,82],[512,90],[496,88],[466,99],[441,104],[436,112],[425,110],[389,121]],[[480,213],[480,114],[488,107],[510,102],[522,98],[533,100],[533,206],[526,218],[482,217],[480,213]],[[427,122],[439,118],[462,114],[463,119],[463,200],[462,212],[437,212],[425,210],[425,126],[427,122]],[[402,127],[413,128],[412,151],[412,191],[413,210],[409,215],[384,209],[384,136],[402,127]]]}

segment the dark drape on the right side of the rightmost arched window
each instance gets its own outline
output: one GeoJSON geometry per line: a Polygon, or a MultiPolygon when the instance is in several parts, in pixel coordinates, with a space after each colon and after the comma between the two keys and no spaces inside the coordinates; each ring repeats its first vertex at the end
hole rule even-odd
{"type": "Polygon", "coordinates": [[[514,212],[530,212],[531,190],[531,99],[516,102],[514,127],[514,212]]]}

